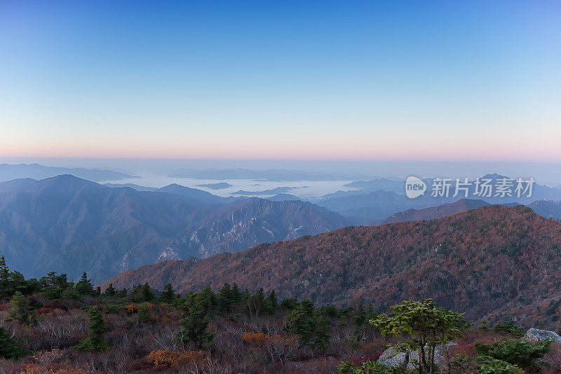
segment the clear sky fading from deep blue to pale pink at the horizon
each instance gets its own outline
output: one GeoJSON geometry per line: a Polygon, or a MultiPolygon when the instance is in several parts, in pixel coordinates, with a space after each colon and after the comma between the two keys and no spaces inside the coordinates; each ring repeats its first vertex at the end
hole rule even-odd
{"type": "Polygon", "coordinates": [[[0,1],[0,157],[560,162],[560,1],[0,1]]]}

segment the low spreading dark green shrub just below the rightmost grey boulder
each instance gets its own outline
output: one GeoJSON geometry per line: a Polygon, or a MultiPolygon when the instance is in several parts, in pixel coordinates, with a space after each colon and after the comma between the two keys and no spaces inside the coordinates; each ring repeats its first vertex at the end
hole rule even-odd
{"type": "Polygon", "coordinates": [[[492,344],[475,342],[475,351],[480,355],[513,363],[523,369],[537,368],[536,360],[551,349],[551,340],[526,342],[525,340],[502,340],[492,344]]]}

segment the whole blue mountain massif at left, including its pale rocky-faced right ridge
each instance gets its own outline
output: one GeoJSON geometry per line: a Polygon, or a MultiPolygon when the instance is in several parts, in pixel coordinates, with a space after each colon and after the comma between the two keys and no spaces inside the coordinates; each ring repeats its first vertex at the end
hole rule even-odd
{"type": "Polygon", "coordinates": [[[0,193],[0,256],[27,277],[55,271],[78,279],[88,271],[103,282],[147,263],[240,251],[346,225],[339,214],[309,203],[228,203],[233,198],[177,185],[143,192],[61,175],[0,188],[6,190],[0,193]]]}

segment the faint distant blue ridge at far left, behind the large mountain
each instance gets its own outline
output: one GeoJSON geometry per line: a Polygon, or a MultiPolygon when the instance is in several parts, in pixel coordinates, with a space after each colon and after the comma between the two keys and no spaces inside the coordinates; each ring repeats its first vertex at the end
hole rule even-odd
{"type": "Polygon", "coordinates": [[[71,174],[79,178],[97,182],[137,178],[137,176],[134,175],[104,169],[84,169],[81,167],[69,169],[67,167],[50,167],[39,164],[0,165],[0,181],[11,181],[12,179],[21,178],[45,179],[61,174],[71,174]]]}

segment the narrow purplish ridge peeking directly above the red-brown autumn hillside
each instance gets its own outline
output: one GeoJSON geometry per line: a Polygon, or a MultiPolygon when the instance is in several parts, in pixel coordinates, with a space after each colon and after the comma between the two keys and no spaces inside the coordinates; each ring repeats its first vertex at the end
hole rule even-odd
{"type": "Polygon", "coordinates": [[[425,219],[438,219],[445,216],[451,216],[452,214],[457,214],[465,212],[470,209],[477,209],[480,207],[485,207],[487,202],[483,200],[470,200],[461,199],[457,202],[450,202],[437,207],[428,207],[424,209],[409,209],[405,212],[399,212],[389,216],[383,223],[396,223],[405,221],[423,221],[425,219]]]}

